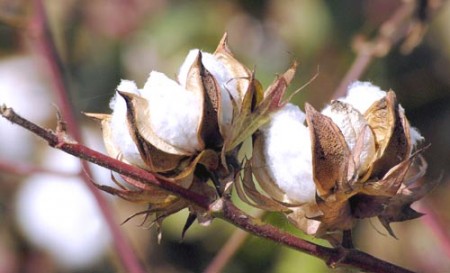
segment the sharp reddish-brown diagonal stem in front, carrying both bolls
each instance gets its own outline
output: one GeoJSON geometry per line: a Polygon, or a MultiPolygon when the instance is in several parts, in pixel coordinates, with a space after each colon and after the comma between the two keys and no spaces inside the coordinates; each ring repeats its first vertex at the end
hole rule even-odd
{"type": "MultiPolygon", "coordinates": [[[[48,142],[50,146],[54,148],[60,149],[81,159],[129,176],[148,185],[167,190],[181,198],[188,200],[192,205],[197,206],[198,208],[208,210],[209,213],[211,213],[212,216],[216,218],[221,218],[255,236],[266,238],[287,247],[296,249],[300,252],[318,257],[324,260],[331,267],[348,265],[360,268],[365,271],[377,273],[412,272],[377,259],[356,249],[328,248],[295,237],[292,234],[281,231],[280,229],[270,224],[264,224],[260,220],[244,213],[236,206],[234,206],[229,199],[222,198],[216,201],[210,201],[206,196],[199,195],[195,192],[184,189],[170,181],[157,179],[153,174],[145,170],[132,165],[128,165],[70,140],[64,131],[57,130],[56,132],[53,132],[51,130],[44,129],[32,123],[31,121],[20,117],[13,111],[13,109],[8,108],[4,105],[0,106],[0,115],[8,119],[12,123],[17,124],[43,138],[48,142]]],[[[58,128],[62,127],[63,126],[61,125],[58,126],[58,128]]],[[[119,247],[123,248],[125,246],[120,245],[119,247]]],[[[132,252],[128,252],[128,254],[132,255],[132,252]]],[[[133,270],[137,269],[134,268],[133,270]]],[[[130,270],[127,272],[136,271],[130,270]]]]}

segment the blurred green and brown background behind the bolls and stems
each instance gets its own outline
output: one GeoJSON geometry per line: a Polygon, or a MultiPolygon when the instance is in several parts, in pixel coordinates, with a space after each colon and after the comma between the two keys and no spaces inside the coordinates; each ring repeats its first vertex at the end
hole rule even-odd
{"type": "MultiPolygon", "coordinates": [[[[31,2],[0,1],[0,62],[38,52],[26,28],[33,12],[31,2]]],[[[80,113],[78,117],[86,127],[92,128],[96,125],[81,112],[108,112],[109,100],[120,79],[131,79],[143,86],[151,70],[175,77],[190,49],[213,52],[224,32],[228,32],[235,55],[248,67],[255,68],[264,86],[293,59],[300,65],[290,91],[303,85],[319,69],[319,77],[294,101],[301,106],[308,101],[321,108],[355,59],[352,50],[355,35],[373,37],[402,1],[47,0],[44,3],[63,58],[75,112],[80,113]]],[[[21,80],[28,79],[23,76],[21,80]]],[[[394,48],[386,57],[376,59],[361,80],[371,81],[384,90],[393,89],[411,124],[432,144],[425,153],[429,163],[427,179],[442,182],[422,206],[438,216],[450,236],[447,209],[450,207],[450,4],[444,3],[430,18],[423,42],[410,54],[401,54],[394,48]]],[[[43,82],[51,88],[45,72],[43,82]]],[[[0,98],[2,92],[6,91],[0,90],[0,98]]],[[[48,105],[55,101],[48,93],[45,96],[52,111],[48,105]]],[[[45,124],[52,126],[50,122],[45,124]]],[[[1,134],[3,128],[0,127],[1,134]]],[[[100,136],[98,128],[94,130],[100,136]]],[[[0,136],[1,141],[6,142],[0,136]]],[[[29,162],[39,163],[42,149],[33,150],[28,155],[29,162]]],[[[5,155],[1,149],[0,152],[5,155]]],[[[56,168],[58,162],[53,166],[56,168]]],[[[0,272],[123,272],[111,251],[88,267],[67,269],[27,242],[14,216],[15,193],[23,179],[0,171],[0,257],[3,255],[0,261],[6,258],[12,261],[3,270],[0,262],[0,272]]],[[[113,202],[118,222],[142,209],[123,201],[113,202]]],[[[182,212],[164,223],[161,244],[156,243],[153,229],[138,226],[139,220],[121,227],[148,272],[201,272],[234,230],[216,220],[210,227],[194,225],[181,242],[186,216],[182,212]]],[[[270,214],[266,218],[299,234],[279,215],[270,214]]],[[[363,221],[355,230],[355,244],[370,254],[416,271],[450,272],[450,247],[446,249],[426,221],[393,224],[393,228],[398,240],[383,232],[376,220],[363,221]]],[[[224,272],[349,272],[349,269],[332,270],[316,258],[249,237],[224,272]]]]}

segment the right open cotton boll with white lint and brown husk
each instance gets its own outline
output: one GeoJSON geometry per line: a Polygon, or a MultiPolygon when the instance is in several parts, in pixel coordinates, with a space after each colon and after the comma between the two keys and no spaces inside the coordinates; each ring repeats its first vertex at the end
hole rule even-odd
{"type": "Polygon", "coordinates": [[[393,91],[367,82],[322,112],[287,104],[255,135],[251,163],[265,193],[244,175],[238,193],[264,209],[283,211],[308,234],[339,244],[356,220],[391,222],[421,214],[410,205],[433,185],[423,184],[423,137],[405,116],[393,91]]]}

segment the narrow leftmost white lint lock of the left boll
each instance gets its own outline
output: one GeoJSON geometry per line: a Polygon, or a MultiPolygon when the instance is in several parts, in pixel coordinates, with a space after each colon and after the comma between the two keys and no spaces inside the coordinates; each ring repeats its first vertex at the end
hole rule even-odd
{"type": "MultiPolygon", "coordinates": [[[[119,86],[117,86],[117,90],[139,95],[139,90],[133,81],[122,80],[119,86]]],[[[110,121],[111,138],[113,143],[121,152],[123,159],[125,159],[128,163],[144,167],[145,163],[139,154],[136,144],[131,138],[127,126],[127,105],[125,100],[116,93],[111,99],[109,107],[113,110],[110,121]]]]}

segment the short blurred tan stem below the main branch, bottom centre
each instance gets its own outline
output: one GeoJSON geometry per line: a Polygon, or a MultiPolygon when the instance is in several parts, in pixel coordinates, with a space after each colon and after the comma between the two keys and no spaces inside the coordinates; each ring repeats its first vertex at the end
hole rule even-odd
{"type": "MultiPolygon", "coordinates": [[[[261,218],[265,211],[258,211],[255,218],[261,218]]],[[[228,238],[227,242],[220,249],[219,253],[209,263],[208,267],[203,271],[204,273],[218,273],[222,272],[224,267],[236,254],[237,250],[244,244],[250,234],[242,229],[236,229],[228,238]]]]}

